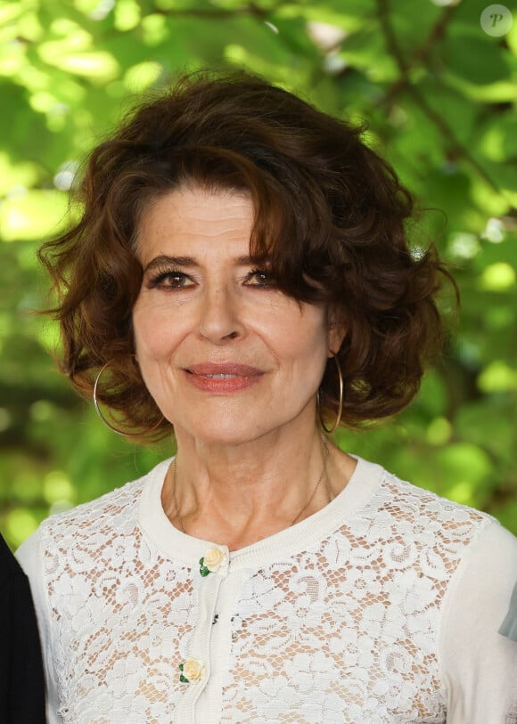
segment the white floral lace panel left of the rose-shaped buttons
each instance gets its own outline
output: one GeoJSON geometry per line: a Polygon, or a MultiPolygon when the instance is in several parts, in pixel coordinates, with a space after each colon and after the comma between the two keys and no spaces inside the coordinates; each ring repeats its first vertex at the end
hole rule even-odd
{"type": "Polygon", "coordinates": [[[142,535],[140,492],[127,485],[54,529],[49,521],[45,574],[67,722],[112,724],[116,707],[127,724],[160,724],[174,712],[171,668],[196,622],[193,574],[169,565],[142,535]]]}

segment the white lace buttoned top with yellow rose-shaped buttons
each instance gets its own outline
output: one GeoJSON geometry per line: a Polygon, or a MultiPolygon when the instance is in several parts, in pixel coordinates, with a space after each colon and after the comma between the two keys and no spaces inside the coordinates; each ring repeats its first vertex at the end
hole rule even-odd
{"type": "Polygon", "coordinates": [[[168,462],[19,551],[50,724],[517,722],[517,540],[492,518],[358,460],[326,508],[229,552],[169,523],[168,462]]]}

